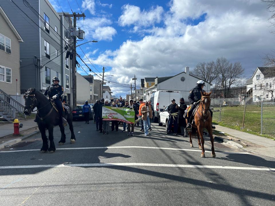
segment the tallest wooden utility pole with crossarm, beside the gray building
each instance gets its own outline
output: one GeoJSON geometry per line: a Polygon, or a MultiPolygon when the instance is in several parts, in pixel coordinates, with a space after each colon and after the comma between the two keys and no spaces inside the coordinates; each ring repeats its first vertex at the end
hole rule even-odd
{"type": "Polygon", "coordinates": [[[72,107],[75,108],[76,107],[76,66],[75,66],[75,62],[76,62],[76,17],[86,17],[85,14],[76,14],[75,12],[73,12],[73,14],[64,14],[65,17],[73,17],[73,43],[72,43],[72,85],[73,85],[73,89],[72,89],[72,107]]]}

